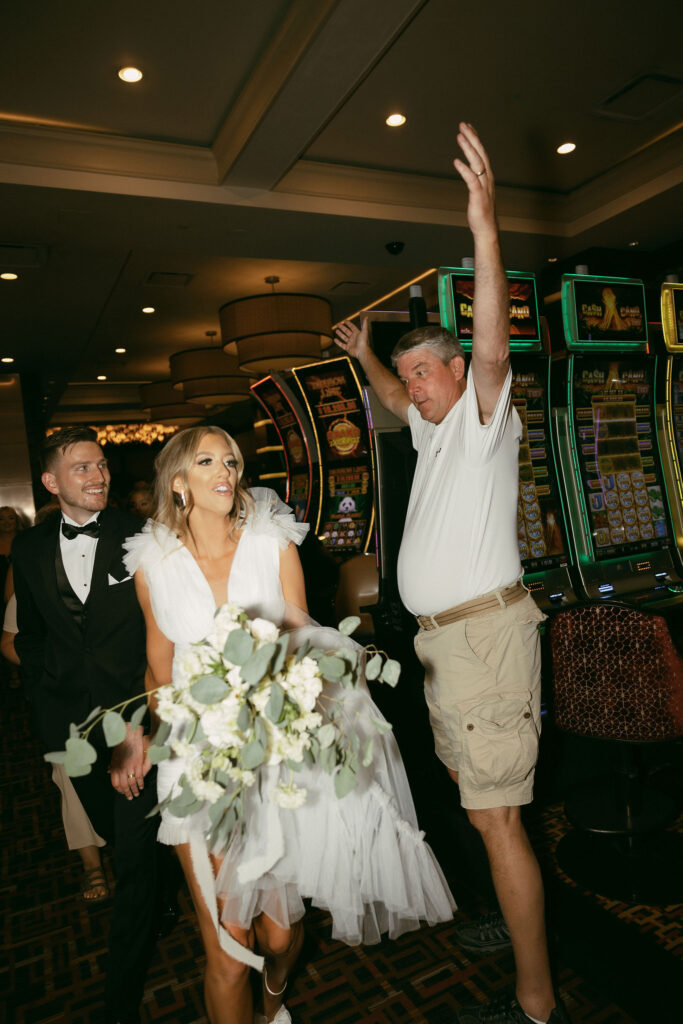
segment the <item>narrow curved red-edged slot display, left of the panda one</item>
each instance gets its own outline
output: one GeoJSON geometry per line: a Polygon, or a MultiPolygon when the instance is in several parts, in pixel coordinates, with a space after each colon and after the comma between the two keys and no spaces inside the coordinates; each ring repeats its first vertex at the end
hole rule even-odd
{"type": "Polygon", "coordinates": [[[287,503],[299,522],[307,520],[311,501],[319,487],[317,466],[313,465],[306,432],[289,388],[269,375],[251,385],[251,391],[272,420],[285,453],[287,465],[287,503]]]}

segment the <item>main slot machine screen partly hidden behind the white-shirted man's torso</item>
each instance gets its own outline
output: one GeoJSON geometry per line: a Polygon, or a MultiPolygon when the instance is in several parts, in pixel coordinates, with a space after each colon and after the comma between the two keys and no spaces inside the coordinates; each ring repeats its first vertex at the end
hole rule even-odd
{"type": "Polygon", "coordinates": [[[512,400],[522,422],[517,534],[524,572],[567,562],[564,518],[548,423],[548,365],[513,356],[512,400]]]}

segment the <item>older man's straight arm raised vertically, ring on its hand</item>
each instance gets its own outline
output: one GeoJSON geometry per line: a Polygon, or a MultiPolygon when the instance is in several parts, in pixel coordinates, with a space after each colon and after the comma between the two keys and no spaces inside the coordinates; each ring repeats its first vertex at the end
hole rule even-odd
{"type": "Polygon", "coordinates": [[[460,123],[458,144],[467,162],[454,166],[469,189],[467,221],[474,238],[472,375],[483,423],[490,419],[510,366],[510,298],[496,222],[488,155],[472,125],[460,123]]]}

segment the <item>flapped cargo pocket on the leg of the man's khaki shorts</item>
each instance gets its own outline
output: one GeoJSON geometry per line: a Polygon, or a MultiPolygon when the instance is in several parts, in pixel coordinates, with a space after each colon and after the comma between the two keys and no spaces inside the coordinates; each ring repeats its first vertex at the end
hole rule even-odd
{"type": "Polygon", "coordinates": [[[463,760],[477,786],[516,785],[533,770],[539,733],[530,693],[497,693],[461,710],[463,760]]]}

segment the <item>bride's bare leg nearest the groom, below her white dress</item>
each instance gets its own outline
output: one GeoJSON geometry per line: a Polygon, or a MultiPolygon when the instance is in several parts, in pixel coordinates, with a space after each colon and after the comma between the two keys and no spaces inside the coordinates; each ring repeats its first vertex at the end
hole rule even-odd
{"type": "MultiPolygon", "coordinates": [[[[204,902],[199,883],[195,878],[189,845],[185,843],[182,846],[176,846],[175,849],[189,886],[207,955],[204,997],[209,1020],[211,1024],[253,1024],[251,986],[249,984],[250,969],[246,964],[240,964],[232,959],[220,947],[211,913],[204,902]]],[[[228,931],[232,938],[241,942],[243,946],[253,948],[252,932],[233,927],[230,927],[228,931]]],[[[270,985],[270,987],[273,986],[270,985]]]]}

